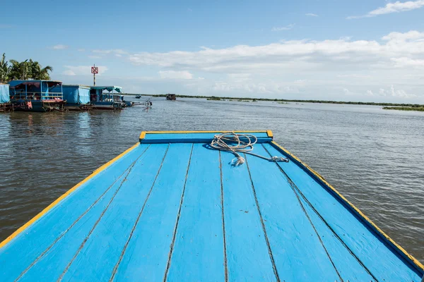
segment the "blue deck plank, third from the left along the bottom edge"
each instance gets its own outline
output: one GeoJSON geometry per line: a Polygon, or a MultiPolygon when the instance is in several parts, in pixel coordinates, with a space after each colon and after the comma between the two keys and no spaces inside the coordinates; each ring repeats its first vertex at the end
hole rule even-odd
{"type": "Polygon", "coordinates": [[[149,147],[142,161],[131,170],[113,202],[78,252],[62,269],[63,281],[103,281],[112,276],[122,250],[155,183],[169,145],[149,147]],[[90,271],[85,271],[89,267],[90,271]]]}

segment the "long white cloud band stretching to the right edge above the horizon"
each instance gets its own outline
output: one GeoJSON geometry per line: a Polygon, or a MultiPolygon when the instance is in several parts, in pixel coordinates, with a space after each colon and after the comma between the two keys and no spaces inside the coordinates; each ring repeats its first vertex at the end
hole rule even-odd
{"type": "Polygon", "coordinates": [[[261,46],[237,45],[200,51],[143,52],[129,55],[136,65],[197,68],[211,73],[245,73],[246,70],[329,69],[341,65],[356,68],[390,68],[402,57],[424,59],[424,32],[391,32],[375,40],[290,40],[261,46]]]}

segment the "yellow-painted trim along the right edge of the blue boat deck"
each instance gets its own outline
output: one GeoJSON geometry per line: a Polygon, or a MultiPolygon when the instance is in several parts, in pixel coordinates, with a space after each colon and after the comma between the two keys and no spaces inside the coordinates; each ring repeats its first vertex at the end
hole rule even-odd
{"type": "Polygon", "coordinates": [[[295,159],[296,161],[299,162],[299,164],[301,164],[302,166],[305,166],[305,168],[307,168],[307,170],[309,170],[311,173],[314,174],[314,176],[316,176],[319,180],[322,181],[322,183],[324,183],[328,188],[330,188],[333,192],[336,193],[336,195],[338,195],[338,197],[340,197],[341,200],[343,200],[343,202],[346,202],[346,204],[348,204],[349,206],[351,206],[352,209],[355,210],[355,212],[358,213],[358,215],[360,215],[363,220],[367,221],[368,223],[370,223],[370,225],[375,228],[375,230],[382,235],[386,240],[389,240],[389,242],[394,245],[394,247],[396,247],[399,251],[401,251],[406,257],[408,257],[409,259],[411,259],[411,262],[413,262],[413,264],[416,264],[416,266],[418,266],[418,269],[424,271],[424,266],[423,264],[421,264],[420,262],[418,262],[418,260],[413,257],[412,255],[409,255],[408,252],[406,252],[406,250],[401,247],[399,244],[397,244],[396,242],[394,242],[393,239],[391,239],[389,237],[389,235],[387,235],[386,233],[384,233],[384,231],[382,231],[382,229],[380,229],[374,222],[372,222],[367,216],[365,216],[365,214],[363,214],[363,212],[360,211],[360,209],[358,209],[357,207],[355,207],[351,202],[349,202],[343,195],[340,194],[340,192],[338,192],[333,186],[331,186],[328,182],[326,182],[326,180],[319,175],[319,173],[317,173],[316,171],[314,171],[312,168],[310,168],[310,166],[308,166],[307,164],[305,164],[303,161],[301,161],[298,157],[296,157],[294,154],[288,152],[287,149],[285,149],[284,147],[278,145],[277,142],[272,141],[273,145],[276,145],[278,148],[280,148],[281,150],[283,150],[283,152],[285,152],[285,154],[290,155],[290,157],[292,157],[293,159],[295,159]]]}

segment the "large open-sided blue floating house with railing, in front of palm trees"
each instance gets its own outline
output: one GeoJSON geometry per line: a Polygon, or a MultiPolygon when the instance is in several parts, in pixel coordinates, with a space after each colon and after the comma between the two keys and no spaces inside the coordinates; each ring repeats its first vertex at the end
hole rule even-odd
{"type": "Polygon", "coordinates": [[[61,81],[12,80],[9,93],[17,111],[63,111],[64,99],[61,81]]]}

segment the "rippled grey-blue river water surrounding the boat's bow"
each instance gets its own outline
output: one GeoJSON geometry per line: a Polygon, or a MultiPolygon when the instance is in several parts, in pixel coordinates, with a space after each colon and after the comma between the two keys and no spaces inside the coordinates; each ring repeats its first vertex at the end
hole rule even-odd
{"type": "Polygon", "coordinates": [[[0,114],[0,241],[134,145],[142,130],[271,129],[276,142],[424,262],[424,113],[189,98],[152,102],[148,111],[0,114]]]}

